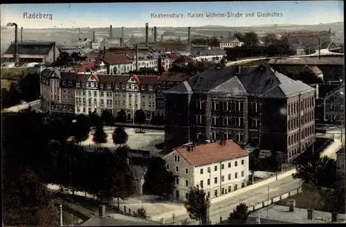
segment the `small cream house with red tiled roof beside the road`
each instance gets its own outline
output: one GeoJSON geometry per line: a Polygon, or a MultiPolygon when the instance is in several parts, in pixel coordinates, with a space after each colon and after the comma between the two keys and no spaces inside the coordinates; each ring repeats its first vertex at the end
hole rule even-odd
{"type": "Polygon", "coordinates": [[[248,181],[248,154],[233,140],[183,145],[163,159],[176,176],[175,199],[187,199],[190,187],[203,188],[215,198],[244,188],[248,181]]]}

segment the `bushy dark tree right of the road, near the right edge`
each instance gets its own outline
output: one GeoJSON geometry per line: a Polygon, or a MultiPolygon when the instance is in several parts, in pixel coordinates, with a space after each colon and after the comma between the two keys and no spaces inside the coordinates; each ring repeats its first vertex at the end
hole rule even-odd
{"type": "Polygon", "coordinates": [[[304,183],[314,183],[320,187],[330,187],[335,182],[336,161],[320,154],[311,154],[300,161],[293,174],[294,179],[302,179],[304,183]]]}

